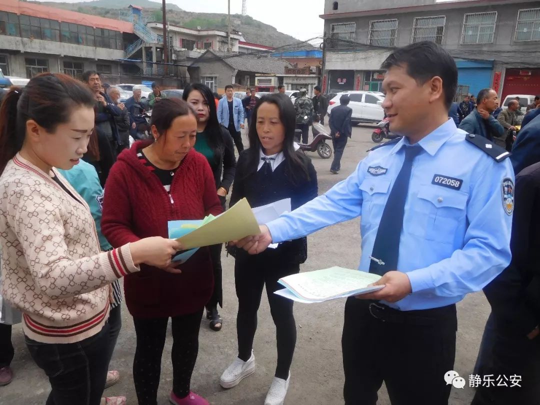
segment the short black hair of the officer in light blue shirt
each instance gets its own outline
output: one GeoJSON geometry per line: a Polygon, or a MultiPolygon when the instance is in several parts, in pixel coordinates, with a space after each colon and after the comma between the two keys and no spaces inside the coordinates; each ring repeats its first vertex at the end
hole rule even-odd
{"type": "Polygon", "coordinates": [[[403,48],[398,48],[384,60],[381,69],[388,70],[393,66],[407,66],[407,75],[417,83],[424,84],[438,76],[442,79],[444,103],[447,108],[457,89],[457,66],[454,58],[440,45],[431,41],[422,41],[403,48]]]}

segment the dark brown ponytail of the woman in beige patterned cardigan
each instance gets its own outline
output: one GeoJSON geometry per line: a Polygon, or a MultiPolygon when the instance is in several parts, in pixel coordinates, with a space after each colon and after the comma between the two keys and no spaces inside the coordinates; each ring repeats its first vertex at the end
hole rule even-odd
{"type": "Polygon", "coordinates": [[[0,106],[0,174],[23,146],[24,129],[21,131],[17,128],[17,103],[22,92],[19,87],[11,87],[0,106]]]}

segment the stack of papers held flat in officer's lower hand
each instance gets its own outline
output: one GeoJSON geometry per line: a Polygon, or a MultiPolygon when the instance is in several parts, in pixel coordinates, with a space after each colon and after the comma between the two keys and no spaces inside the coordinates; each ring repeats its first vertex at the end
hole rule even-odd
{"type": "Polygon", "coordinates": [[[324,302],[377,291],[384,285],[372,284],[380,278],[378,274],[330,267],[283,277],[278,282],[286,288],[274,294],[303,303],[324,302]]]}

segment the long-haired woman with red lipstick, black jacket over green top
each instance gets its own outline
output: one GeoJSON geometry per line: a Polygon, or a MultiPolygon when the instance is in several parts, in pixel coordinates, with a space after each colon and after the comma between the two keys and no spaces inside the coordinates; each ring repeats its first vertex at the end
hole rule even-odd
{"type": "MultiPolygon", "coordinates": [[[[231,134],[219,125],[215,109],[214,96],[208,86],[195,83],[184,89],[184,100],[191,104],[199,119],[195,150],[204,154],[214,173],[215,188],[221,205],[225,209],[225,198],[231,189],[236,168],[234,146],[231,134]]],[[[223,307],[223,289],[221,282],[222,244],[210,246],[214,267],[214,293],[206,305],[206,318],[210,320],[212,330],[220,330],[223,320],[219,316],[218,303],[223,307]]]]}

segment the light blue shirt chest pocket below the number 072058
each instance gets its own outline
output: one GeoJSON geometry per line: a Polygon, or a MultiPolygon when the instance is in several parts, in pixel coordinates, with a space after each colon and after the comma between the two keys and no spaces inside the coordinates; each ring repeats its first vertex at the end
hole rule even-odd
{"type": "Polygon", "coordinates": [[[458,227],[466,220],[469,194],[441,186],[419,188],[413,202],[414,218],[404,223],[405,232],[423,239],[453,244],[458,227]]]}

